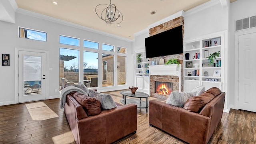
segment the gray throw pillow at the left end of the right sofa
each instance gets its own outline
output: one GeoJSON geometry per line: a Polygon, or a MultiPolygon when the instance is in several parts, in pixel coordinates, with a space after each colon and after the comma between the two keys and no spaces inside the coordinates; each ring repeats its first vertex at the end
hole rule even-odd
{"type": "Polygon", "coordinates": [[[172,92],[166,100],[166,104],[182,107],[191,96],[196,96],[196,92],[172,92]]]}

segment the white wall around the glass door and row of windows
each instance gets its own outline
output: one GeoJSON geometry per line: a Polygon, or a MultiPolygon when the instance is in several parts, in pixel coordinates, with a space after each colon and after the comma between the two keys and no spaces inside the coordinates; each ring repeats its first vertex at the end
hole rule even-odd
{"type": "MultiPolygon", "coordinates": [[[[51,22],[48,20],[43,20],[33,16],[28,16],[25,14],[16,13],[16,23],[8,23],[0,21],[0,51],[1,54],[10,54],[10,66],[0,66],[0,105],[13,104],[14,103],[14,48],[30,48],[35,50],[47,50],[49,51],[49,65],[48,68],[53,68],[52,71],[49,71],[49,97],[58,97],[59,92],[55,92],[55,89],[59,89],[59,48],[72,48],[80,50],[80,53],[85,50],[83,48],[83,40],[92,40],[95,42],[100,42],[105,44],[111,44],[116,46],[121,46],[127,48],[128,58],[127,62],[130,62],[132,59],[132,42],[114,38],[111,36],[106,36],[103,34],[98,34],[90,32],[87,30],[82,30],[80,28],[74,28],[73,26],[67,26],[59,24],[56,22],[51,22]],[[25,38],[18,38],[18,26],[40,30],[47,32],[47,41],[42,42],[38,40],[30,40],[25,38]],[[80,47],[78,46],[69,46],[65,44],[59,44],[59,35],[72,36],[75,38],[80,38],[80,47]]],[[[87,49],[89,50],[89,49],[87,49]]],[[[101,72],[101,54],[102,50],[99,53],[99,73],[101,72]]],[[[81,56],[81,55],[80,55],[81,56]]],[[[80,62],[81,63],[81,62],[80,62]]],[[[116,58],[115,58],[116,63],[116,58]]],[[[80,65],[81,67],[81,65],[80,65]]],[[[124,86],[112,86],[112,87],[100,87],[98,88],[99,92],[126,89],[128,85],[132,85],[133,80],[130,77],[133,76],[132,66],[127,64],[127,85],[124,86]]],[[[82,75],[82,74],[80,74],[82,75]]],[[[102,78],[102,75],[99,75],[99,79],[102,78]]],[[[80,81],[83,78],[81,76],[80,81]]]]}

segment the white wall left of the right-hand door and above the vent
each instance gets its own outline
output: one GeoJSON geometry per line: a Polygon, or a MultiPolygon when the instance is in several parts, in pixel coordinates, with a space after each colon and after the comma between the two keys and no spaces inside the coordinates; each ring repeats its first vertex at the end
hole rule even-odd
{"type": "Polygon", "coordinates": [[[229,104],[234,106],[234,82],[238,78],[234,77],[234,63],[235,63],[235,56],[234,56],[234,22],[236,20],[240,20],[242,18],[248,18],[250,16],[256,16],[256,0],[237,0],[230,4],[230,17],[229,17],[229,68],[230,68],[230,101],[229,104]]]}

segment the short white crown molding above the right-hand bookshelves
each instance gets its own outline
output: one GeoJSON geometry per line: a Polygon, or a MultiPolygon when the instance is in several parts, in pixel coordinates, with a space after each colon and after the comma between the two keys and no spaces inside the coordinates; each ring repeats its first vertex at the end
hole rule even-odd
{"type": "Polygon", "coordinates": [[[195,8],[187,10],[186,12],[184,12],[184,17],[189,16],[191,14],[195,14],[197,12],[200,12],[200,11],[204,10],[204,9],[210,8],[210,7],[212,7],[216,4],[220,4],[220,0],[210,0],[209,2],[206,2],[206,3],[201,4],[201,5],[199,5],[195,8]]]}

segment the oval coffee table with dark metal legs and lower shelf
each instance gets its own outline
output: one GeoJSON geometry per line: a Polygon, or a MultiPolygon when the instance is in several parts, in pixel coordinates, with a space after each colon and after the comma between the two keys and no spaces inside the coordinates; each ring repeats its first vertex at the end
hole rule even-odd
{"type": "Polygon", "coordinates": [[[120,92],[120,94],[123,95],[123,98],[120,100],[122,104],[136,104],[138,108],[146,108],[146,113],[148,113],[148,97],[149,95],[144,92],[135,92],[135,94],[132,94],[130,90],[123,90],[120,92]],[[126,97],[133,97],[133,98],[127,98],[126,97]],[[135,98],[140,98],[135,99],[135,98]],[[141,98],[146,98],[146,102],[142,101],[141,98]]]}

